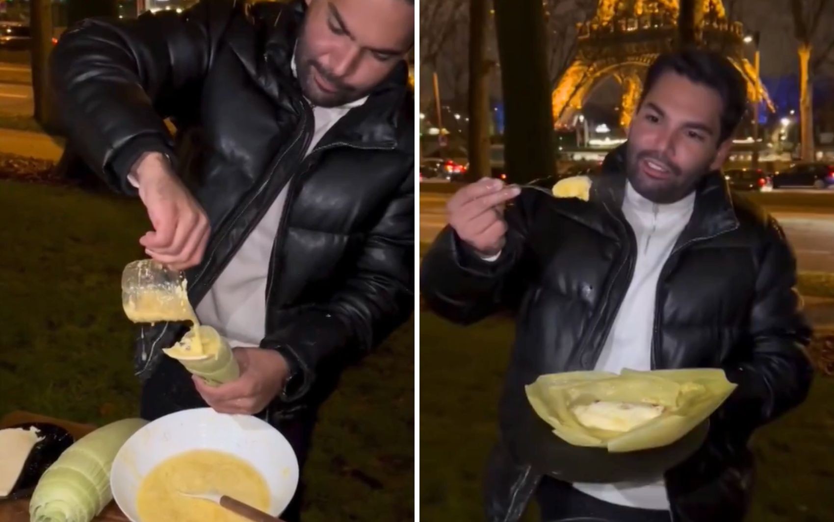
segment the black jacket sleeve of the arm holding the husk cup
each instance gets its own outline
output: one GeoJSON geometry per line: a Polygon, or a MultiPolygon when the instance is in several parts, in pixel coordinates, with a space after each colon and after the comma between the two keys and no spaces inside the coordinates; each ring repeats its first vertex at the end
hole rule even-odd
{"type": "Polygon", "coordinates": [[[261,348],[289,363],[280,399],[301,399],[325,366],[339,367],[381,343],[414,311],[414,170],[375,223],[349,276],[327,302],[304,307],[270,331],[261,348]]]}

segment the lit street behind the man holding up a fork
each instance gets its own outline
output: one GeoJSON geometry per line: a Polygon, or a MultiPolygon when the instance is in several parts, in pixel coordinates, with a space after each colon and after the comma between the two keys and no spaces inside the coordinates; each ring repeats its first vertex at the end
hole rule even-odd
{"type": "MultiPolygon", "coordinates": [[[[445,225],[445,203],[450,195],[420,192],[421,242],[429,243],[445,225]]],[[[779,191],[767,196],[766,208],[785,228],[796,249],[799,269],[830,272],[834,267],[834,193],[779,191]],[[797,208],[800,203],[809,208],[797,208]]]]}

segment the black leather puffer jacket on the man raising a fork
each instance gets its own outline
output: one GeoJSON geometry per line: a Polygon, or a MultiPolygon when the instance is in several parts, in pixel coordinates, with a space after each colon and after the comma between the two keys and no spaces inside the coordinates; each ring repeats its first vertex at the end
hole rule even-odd
{"type": "MultiPolygon", "coordinates": [[[[515,309],[503,434],[518,411],[510,398],[525,384],[594,369],[636,258],[620,210],[623,158],[623,149],[609,155],[590,203],[523,191],[507,210],[507,245],[495,263],[471,253],[450,228],[425,255],[421,292],[437,313],[466,324],[506,304],[515,309]]],[[[795,284],[795,259],[776,222],[711,173],[661,273],[651,363],[721,368],[738,387],[713,414],[701,449],[666,474],[676,522],[739,522],[751,488],[751,432],[806,397],[812,370],[803,348],[811,332],[795,284]]],[[[499,444],[487,471],[488,519],[520,519],[539,480],[499,444]]]]}

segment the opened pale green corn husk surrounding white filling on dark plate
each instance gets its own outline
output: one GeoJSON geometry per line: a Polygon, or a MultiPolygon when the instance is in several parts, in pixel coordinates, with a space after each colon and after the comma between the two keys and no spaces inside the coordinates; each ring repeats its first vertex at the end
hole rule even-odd
{"type": "Polygon", "coordinates": [[[568,444],[612,453],[661,448],[707,419],[736,389],[721,369],[670,369],[622,374],[582,371],[541,375],[525,386],[535,413],[568,444]],[[656,419],[628,432],[587,428],[571,409],[594,401],[660,404],[656,419]]]}

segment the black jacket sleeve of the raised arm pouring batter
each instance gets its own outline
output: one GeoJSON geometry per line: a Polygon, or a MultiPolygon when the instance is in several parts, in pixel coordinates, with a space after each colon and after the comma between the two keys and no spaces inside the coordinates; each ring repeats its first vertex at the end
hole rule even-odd
{"type": "Polygon", "coordinates": [[[136,193],[127,176],[143,153],[173,161],[163,118],[198,93],[233,13],[230,1],[202,0],[182,14],[88,18],[63,33],[50,64],[56,107],[72,147],[111,187],[136,193]]]}

